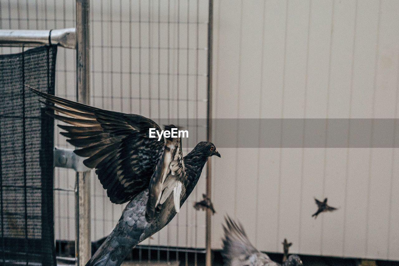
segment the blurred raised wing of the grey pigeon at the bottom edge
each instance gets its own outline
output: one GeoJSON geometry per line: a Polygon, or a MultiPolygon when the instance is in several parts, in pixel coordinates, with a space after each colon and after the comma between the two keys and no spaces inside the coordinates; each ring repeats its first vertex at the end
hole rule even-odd
{"type": "MultiPolygon", "coordinates": [[[[241,223],[236,223],[228,215],[223,225],[224,238],[222,256],[225,265],[239,265],[237,260],[247,260],[260,252],[251,244],[241,223]]],[[[265,255],[265,254],[264,254],[265,255]]],[[[267,255],[265,255],[267,256],[267,255]]],[[[242,264],[246,265],[246,264],[242,264]]]]}

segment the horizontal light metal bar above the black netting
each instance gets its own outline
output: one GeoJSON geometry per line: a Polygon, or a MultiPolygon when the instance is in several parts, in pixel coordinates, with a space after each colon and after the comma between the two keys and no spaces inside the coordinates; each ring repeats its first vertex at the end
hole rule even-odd
{"type": "Polygon", "coordinates": [[[0,45],[2,46],[38,46],[56,44],[61,47],[75,49],[75,28],[52,30],[0,29],[0,45]]]}

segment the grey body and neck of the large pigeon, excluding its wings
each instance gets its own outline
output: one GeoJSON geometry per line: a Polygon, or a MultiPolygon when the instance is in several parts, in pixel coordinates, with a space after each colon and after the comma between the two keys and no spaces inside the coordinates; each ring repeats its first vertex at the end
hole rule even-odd
{"type": "MultiPolygon", "coordinates": [[[[199,143],[197,147],[202,144],[204,143],[199,143]]],[[[180,205],[194,190],[208,158],[201,149],[196,148],[184,157],[188,178],[182,186],[180,205]]],[[[160,213],[148,222],[146,219],[147,201],[148,189],[140,192],[128,203],[115,229],[86,266],[119,266],[134,246],[165,227],[176,215],[171,194],[162,205],[160,213]]]]}

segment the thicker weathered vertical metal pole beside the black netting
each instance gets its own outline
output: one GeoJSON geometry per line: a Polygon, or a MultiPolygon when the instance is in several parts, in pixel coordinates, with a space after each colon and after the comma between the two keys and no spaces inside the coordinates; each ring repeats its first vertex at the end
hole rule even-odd
{"type": "MultiPolygon", "coordinates": [[[[90,0],[76,0],[76,96],[89,104],[90,92],[90,0]]],[[[84,266],[91,257],[90,171],[76,173],[76,255],[84,266]]]]}

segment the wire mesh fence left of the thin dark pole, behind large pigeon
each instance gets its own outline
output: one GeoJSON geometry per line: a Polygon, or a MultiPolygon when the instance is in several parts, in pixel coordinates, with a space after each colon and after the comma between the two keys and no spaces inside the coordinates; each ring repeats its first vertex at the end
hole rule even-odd
{"type": "MultiPolygon", "coordinates": [[[[206,139],[207,1],[91,1],[91,105],[139,113],[155,121],[178,119],[194,147],[206,139]],[[192,137],[192,136],[195,136],[192,137]],[[195,143],[194,143],[195,142],[195,143]]],[[[57,29],[74,27],[74,1],[0,0],[0,28],[57,29]]],[[[1,53],[19,48],[1,47],[1,53]]],[[[59,48],[55,93],[75,99],[75,51],[59,48]]],[[[72,148],[55,130],[55,145],[72,148]]],[[[184,149],[187,153],[188,149],[184,149]]],[[[205,176],[205,171],[203,176],[205,176]]],[[[108,235],[124,205],[112,204],[92,174],[91,239],[108,235]]],[[[54,180],[57,255],[74,256],[75,172],[56,169],[54,180]]],[[[205,213],[192,205],[205,192],[201,178],[181,212],[163,230],[143,241],[134,260],[179,260],[189,263],[205,248],[205,213]]]]}

